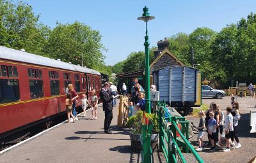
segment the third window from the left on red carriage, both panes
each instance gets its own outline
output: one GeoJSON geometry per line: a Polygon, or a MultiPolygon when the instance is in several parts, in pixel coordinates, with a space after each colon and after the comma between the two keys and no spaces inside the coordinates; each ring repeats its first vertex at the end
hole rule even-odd
{"type": "Polygon", "coordinates": [[[60,81],[59,73],[57,71],[49,71],[51,96],[56,96],[60,94],[60,81]]]}

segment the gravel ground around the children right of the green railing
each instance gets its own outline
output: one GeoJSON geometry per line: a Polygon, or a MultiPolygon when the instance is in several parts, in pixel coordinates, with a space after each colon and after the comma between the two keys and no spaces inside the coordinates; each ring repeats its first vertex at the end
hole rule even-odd
{"type": "MultiPolygon", "coordinates": [[[[253,157],[256,156],[256,133],[250,134],[250,111],[256,110],[254,97],[237,97],[237,102],[239,103],[239,108],[241,110],[241,119],[239,120],[239,126],[237,129],[237,135],[239,141],[241,142],[242,148],[232,150],[231,152],[222,152],[225,147],[219,146],[218,150],[215,152],[209,151],[209,146],[206,146],[205,152],[200,152],[200,157],[204,162],[248,162],[253,157]]],[[[230,97],[223,97],[223,99],[203,99],[202,103],[209,105],[210,103],[220,104],[221,110],[225,111],[227,106],[230,106],[230,97]]],[[[199,119],[195,117],[187,117],[189,121],[198,125],[199,119]]],[[[197,134],[193,138],[189,139],[191,144],[198,147],[196,140],[197,134]]],[[[207,134],[204,134],[204,141],[207,141],[207,134]]],[[[186,160],[188,162],[196,162],[193,159],[191,153],[185,154],[186,160]]]]}

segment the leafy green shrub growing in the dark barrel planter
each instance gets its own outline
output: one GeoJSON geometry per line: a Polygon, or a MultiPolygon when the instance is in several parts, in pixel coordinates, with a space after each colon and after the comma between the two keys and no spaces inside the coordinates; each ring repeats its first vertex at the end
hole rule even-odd
{"type": "MultiPolygon", "coordinates": [[[[149,124],[153,124],[153,132],[159,132],[159,124],[158,117],[156,114],[148,114],[145,115],[149,119],[149,124]]],[[[133,134],[141,134],[141,118],[143,118],[143,111],[137,111],[136,115],[132,115],[129,118],[126,127],[132,128],[133,134]]]]}

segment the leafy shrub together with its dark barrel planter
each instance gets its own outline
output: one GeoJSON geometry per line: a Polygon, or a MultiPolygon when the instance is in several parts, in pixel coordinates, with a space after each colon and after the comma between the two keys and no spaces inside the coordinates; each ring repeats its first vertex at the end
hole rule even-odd
{"type": "MultiPolygon", "coordinates": [[[[149,119],[149,124],[153,125],[153,131],[151,135],[151,147],[154,151],[156,149],[157,141],[158,141],[158,132],[159,132],[159,125],[158,125],[158,117],[156,114],[148,114],[145,115],[149,119]]],[[[143,111],[137,111],[136,115],[132,115],[126,127],[131,128],[130,138],[131,138],[131,147],[132,151],[140,152],[142,150],[141,146],[141,118],[143,118],[143,111]]]]}

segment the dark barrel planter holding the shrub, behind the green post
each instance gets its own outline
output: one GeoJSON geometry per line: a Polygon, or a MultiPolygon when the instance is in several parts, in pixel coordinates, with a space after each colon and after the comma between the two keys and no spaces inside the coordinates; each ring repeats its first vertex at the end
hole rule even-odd
{"type": "MultiPolygon", "coordinates": [[[[142,145],[141,145],[141,141],[140,141],[141,135],[140,134],[132,134],[132,132],[130,132],[130,138],[131,138],[132,151],[133,152],[141,152],[141,150],[142,150],[142,145]]],[[[151,144],[151,148],[152,148],[153,152],[156,150],[157,142],[158,142],[158,133],[152,134],[150,144],[151,144]]]]}

